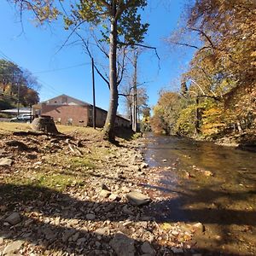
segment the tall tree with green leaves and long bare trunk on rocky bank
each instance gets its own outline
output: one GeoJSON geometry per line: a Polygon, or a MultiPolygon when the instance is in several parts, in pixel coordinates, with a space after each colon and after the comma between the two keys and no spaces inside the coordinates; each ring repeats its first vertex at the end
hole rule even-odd
{"type": "MultiPolygon", "coordinates": [[[[38,20],[53,20],[61,13],[54,5],[59,3],[54,0],[12,0],[19,4],[20,9],[31,9],[38,20]]],[[[64,2],[64,1],[63,1],[64,2]]],[[[148,24],[143,24],[138,9],[147,5],[146,0],[79,0],[70,3],[71,15],[64,12],[66,27],[71,27],[73,32],[87,22],[92,27],[100,28],[101,40],[108,42],[109,59],[109,108],[104,126],[104,137],[114,140],[114,120],[118,108],[118,74],[117,74],[117,49],[122,46],[134,45],[143,42],[143,35],[147,32],[148,24]]],[[[62,5],[62,4],[61,4],[62,5]]],[[[62,5],[63,6],[63,5],[62,5]]]]}

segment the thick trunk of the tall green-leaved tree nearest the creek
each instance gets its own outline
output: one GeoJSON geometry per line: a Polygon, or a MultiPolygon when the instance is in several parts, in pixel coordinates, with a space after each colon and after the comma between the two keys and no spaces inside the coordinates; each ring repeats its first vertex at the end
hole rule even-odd
{"type": "Polygon", "coordinates": [[[114,124],[118,108],[118,88],[117,88],[117,69],[116,69],[116,52],[117,52],[117,20],[114,18],[116,9],[113,6],[113,15],[111,18],[111,31],[109,36],[109,87],[110,101],[108,115],[104,125],[104,139],[114,142],[114,124]]]}

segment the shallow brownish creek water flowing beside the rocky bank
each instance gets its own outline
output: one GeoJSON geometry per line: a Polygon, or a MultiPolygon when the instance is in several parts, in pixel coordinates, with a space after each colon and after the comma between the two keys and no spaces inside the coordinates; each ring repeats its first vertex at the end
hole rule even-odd
{"type": "Polygon", "coordinates": [[[256,255],[256,154],[148,134],[144,157],[160,166],[154,206],[164,222],[204,224],[195,246],[211,255],[256,255]],[[221,252],[221,253],[220,253],[221,252]]]}

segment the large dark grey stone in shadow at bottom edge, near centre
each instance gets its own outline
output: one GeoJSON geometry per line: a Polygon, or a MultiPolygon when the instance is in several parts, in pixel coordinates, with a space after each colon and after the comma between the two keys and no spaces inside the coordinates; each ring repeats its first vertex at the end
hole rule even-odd
{"type": "Polygon", "coordinates": [[[118,256],[134,256],[134,240],[123,233],[117,233],[109,244],[118,256]]]}

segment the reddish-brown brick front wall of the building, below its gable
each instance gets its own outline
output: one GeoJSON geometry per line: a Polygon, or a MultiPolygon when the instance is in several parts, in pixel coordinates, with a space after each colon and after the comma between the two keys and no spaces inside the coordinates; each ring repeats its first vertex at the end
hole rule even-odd
{"type": "Polygon", "coordinates": [[[67,124],[67,119],[73,119],[73,125],[88,125],[88,107],[86,106],[42,106],[42,115],[49,115],[55,120],[61,119],[61,125],[67,124]]]}

